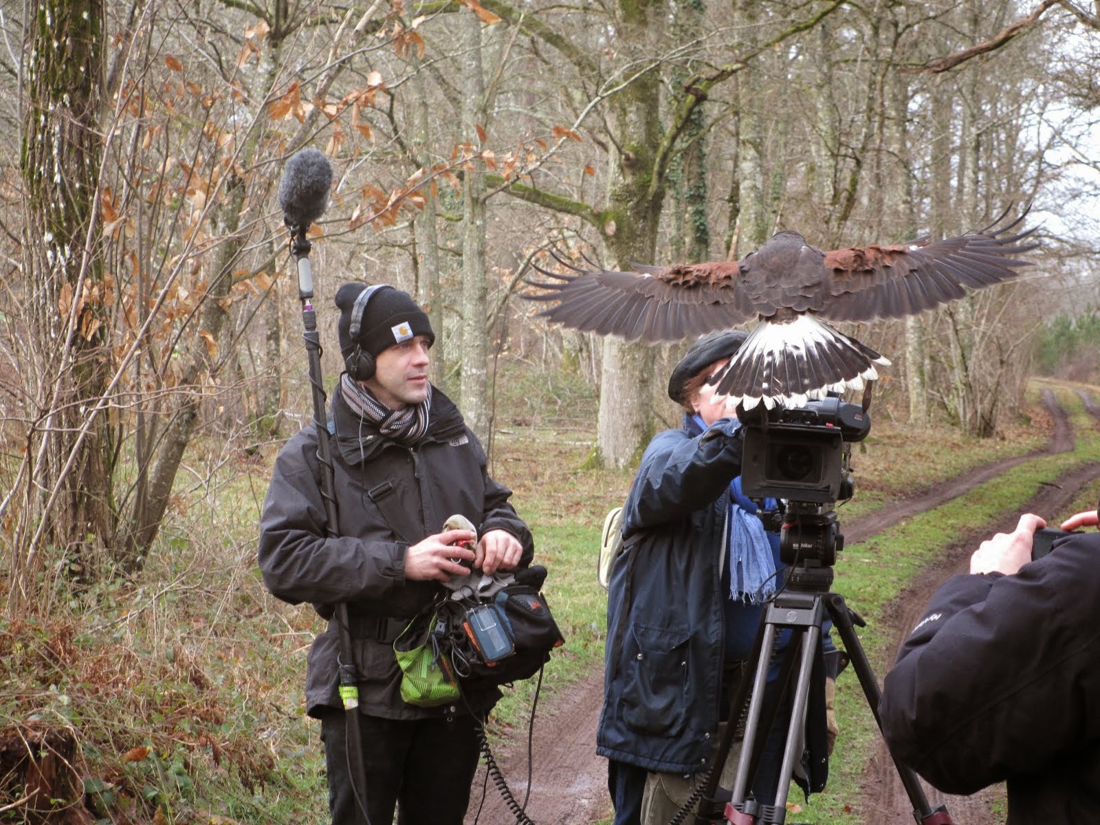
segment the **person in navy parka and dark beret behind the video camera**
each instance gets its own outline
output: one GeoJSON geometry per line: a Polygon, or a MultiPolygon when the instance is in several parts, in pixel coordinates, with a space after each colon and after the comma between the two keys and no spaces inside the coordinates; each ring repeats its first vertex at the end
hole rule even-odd
{"type": "MultiPolygon", "coordinates": [[[[729,698],[740,679],[752,678],[746,660],[763,602],[782,586],[779,536],[740,492],[740,425],[707,383],[745,338],[712,333],[688,350],[668,391],[684,408],[683,427],[653,438],[626,499],[596,733],[596,750],[609,760],[615,825],[663,825],[704,781],[729,698]]],[[[787,714],[769,734],[754,783],[769,798],[787,714]]],[[[824,710],[817,716],[824,739],[824,710]]],[[[737,756],[733,748],[726,787],[737,756]]]]}

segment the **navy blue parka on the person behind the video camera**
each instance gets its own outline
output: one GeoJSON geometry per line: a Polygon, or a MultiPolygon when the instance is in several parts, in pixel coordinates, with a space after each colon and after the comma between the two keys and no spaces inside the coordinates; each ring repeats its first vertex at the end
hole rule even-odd
{"type": "MultiPolygon", "coordinates": [[[[723,716],[730,481],[736,419],[692,416],[658,433],[624,508],[607,605],[601,756],[651,771],[706,770],[723,716]]],[[[777,547],[778,552],[778,547],[777,547]]],[[[776,559],[778,563],[778,558],[776,559]]],[[[744,606],[749,636],[760,606],[744,606]]]]}

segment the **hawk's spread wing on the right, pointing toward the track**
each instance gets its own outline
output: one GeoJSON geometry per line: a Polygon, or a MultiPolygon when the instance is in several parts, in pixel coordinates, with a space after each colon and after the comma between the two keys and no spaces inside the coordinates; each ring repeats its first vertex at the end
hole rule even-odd
{"type": "Polygon", "coordinates": [[[1038,246],[1028,240],[1037,227],[1015,230],[1027,215],[998,228],[1008,210],[978,232],[932,242],[927,237],[890,246],[825,253],[817,314],[833,321],[901,318],[961,298],[1015,277],[1021,255],[1038,246]]]}

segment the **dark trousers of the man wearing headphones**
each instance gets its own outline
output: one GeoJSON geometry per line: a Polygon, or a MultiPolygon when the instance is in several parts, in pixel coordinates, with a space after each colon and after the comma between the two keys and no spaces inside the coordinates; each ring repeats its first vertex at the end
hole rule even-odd
{"type": "MultiPolygon", "coordinates": [[[[462,825],[480,751],[472,716],[452,721],[360,716],[371,825],[462,825]]],[[[332,825],[365,825],[348,769],[342,711],[321,717],[332,825]]]]}

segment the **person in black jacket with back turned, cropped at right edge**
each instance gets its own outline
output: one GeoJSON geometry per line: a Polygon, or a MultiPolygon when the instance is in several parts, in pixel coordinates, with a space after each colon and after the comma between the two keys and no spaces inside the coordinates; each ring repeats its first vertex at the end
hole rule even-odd
{"type": "MultiPolygon", "coordinates": [[[[1079,513],[1064,530],[1096,527],[1079,513]]],[[[905,640],[879,704],[890,751],[934,787],[1007,781],[1009,825],[1100,818],[1100,535],[983,541],[905,640]]]]}

